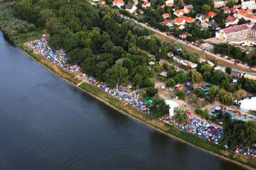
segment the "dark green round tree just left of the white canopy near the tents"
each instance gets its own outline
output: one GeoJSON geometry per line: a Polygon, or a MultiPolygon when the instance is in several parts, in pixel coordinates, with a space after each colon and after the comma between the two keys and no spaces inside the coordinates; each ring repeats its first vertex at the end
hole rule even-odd
{"type": "Polygon", "coordinates": [[[163,99],[155,97],[150,107],[152,117],[160,118],[169,113],[169,107],[163,99]]]}

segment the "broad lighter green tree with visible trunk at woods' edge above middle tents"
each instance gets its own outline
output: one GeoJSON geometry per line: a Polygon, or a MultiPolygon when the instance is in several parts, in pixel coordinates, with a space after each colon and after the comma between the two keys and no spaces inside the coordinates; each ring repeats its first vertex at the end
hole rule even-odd
{"type": "Polygon", "coordinates": [[[110,87],[116,89],[128,82],[128,70],[122,66],[114,66],[104,73],[104,80],[110,87]]]}

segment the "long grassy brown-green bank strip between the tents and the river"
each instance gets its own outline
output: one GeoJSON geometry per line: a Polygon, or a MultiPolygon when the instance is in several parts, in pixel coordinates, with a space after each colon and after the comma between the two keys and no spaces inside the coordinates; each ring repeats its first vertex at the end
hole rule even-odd
{"type": "MultiPolygon", "coordinates": [[[[48,70],[52,71],[52,73],[57,74],[61,78],[67,80],[69,83],[73,84],[73,86],[76,86],[78,83],[80,83],[80,81],[76,79],[74,75],[67,73],[67,71],[64,71],[63,69],[43,58],[39,54],[35,54],[32,50],[27,48],[26,44],[19,44],[19,48],[22,49],[23,52],[25,52],[28,56],[35,59],[38,63],[46,67],[48,70]]],[[[241,165],[247,169],[255,168],[255,163],[253,162],[253,160],[243,158],[241,155],[226,152],[222,150],[223,148],[215,145],[214,143],[209,143],[199,137],[196,137],[195,135],[185,133],[172,126],[165,125],[163,122],[151,119],[150,117],[143,114],[141,111],[138,111],[136,108],[131,107],[130,105],[125,105],[125,103],[122,103],[122,101],[107,94],[105,91],[102,91],[101,89],[93,86],[90,83],[82,83],[79,88],[80,90],[87,92],[93,97],[96,97],[96,99],[109,105],[109,107],[116,109],[122,114],[125,114],[126,116],[129,116],[130,118],[133,118],[134,120],[137,120],[144,125],[150,126],[150,128],[159,131],[160,133],[166,134],[169,137],[175,138],[176,140],[187,143],[188,145],[199,148],[200,150],[218,156],[227,161],[241,165]]]]}

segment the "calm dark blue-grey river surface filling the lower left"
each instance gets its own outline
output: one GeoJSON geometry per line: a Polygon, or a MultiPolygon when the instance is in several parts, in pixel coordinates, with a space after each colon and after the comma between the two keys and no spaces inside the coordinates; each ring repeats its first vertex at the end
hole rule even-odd
{"type": "Polygon", "coordinates": [[[160,134],[40,66],[0,32],[0,169],[241,169],[160,134]]]}

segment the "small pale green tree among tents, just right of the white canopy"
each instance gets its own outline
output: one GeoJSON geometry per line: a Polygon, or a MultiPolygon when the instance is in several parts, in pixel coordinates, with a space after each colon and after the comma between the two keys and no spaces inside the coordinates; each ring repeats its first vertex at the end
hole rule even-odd
{"type": "Polygon", "coordinates": [[[184,124],[188,121],[188,111],[183,106],[174,108],[174,121],[178,124],[184,124]]]}

